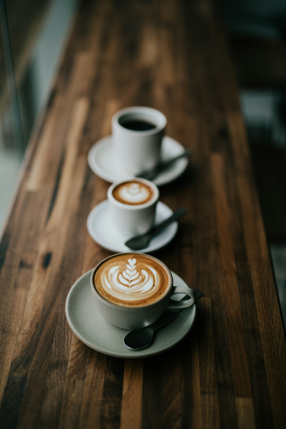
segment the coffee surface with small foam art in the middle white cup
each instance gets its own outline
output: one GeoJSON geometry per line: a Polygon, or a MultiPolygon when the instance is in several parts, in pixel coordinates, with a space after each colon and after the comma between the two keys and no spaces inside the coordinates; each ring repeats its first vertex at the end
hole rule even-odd
{"type": "Polygon", "coordinates": [[[112,195],[123,204],[138,205],[151,201],[154,191],[147,184],[132,180],[115,186],[112,195]]]}

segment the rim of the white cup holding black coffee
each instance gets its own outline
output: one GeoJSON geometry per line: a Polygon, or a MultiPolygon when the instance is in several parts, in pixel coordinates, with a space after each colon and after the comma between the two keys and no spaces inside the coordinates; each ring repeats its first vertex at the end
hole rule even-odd
{"type": "Polygon", "coordinates": [[[164,130],[167,125],[167,118],[166,116],[160,112],[160,110],[154,109],[153,107],[147,107],[147,106],[131,106],[131,107],[125,107],[124,109],[118,110],[111,118],[111,124],[113,127],[118,127],[120,130],[124,130],[127,134],[131,134],[134,136],[149,136],[154,133],[158,133],[161,130],[164,130]],[[139,131],[139,130],[129,130],[128,128],[123,127],[119,123],[119,118],[127,113],[149,113],[156,115],[157,118],[160,118],[160,124],[158,124],[155,128],[152,128],[152,130],[145,130],[145,131],[139,131]]]}

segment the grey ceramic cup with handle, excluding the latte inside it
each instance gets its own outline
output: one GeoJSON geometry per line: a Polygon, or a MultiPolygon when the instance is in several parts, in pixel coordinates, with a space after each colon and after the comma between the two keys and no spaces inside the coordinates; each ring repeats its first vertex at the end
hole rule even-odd
{"type": "MultiPolygon", "coordinates": [[[[163,314],[166,308],[187,308],[193,305],[196,300],[195,292],[187,287],[176,287],[173,285],[173,278],[169,268],[157,258],[154,258],[150,255],[141,254],[139,252],[132,252],[131,257],[132,261],[140,259],[140,255],[148,256],[153,262],[159,263],[163,266],[163,269],[166,270],[168,275],[166,291],[163,293],[163,296],[156,299],[154,302],[148,305],[138,305],[136,307],[128,307],[124,305],[114,304],[109,302],[107,299],[103,298],[102,295],[96,290],[96,284],[94,283],[94,278],[99,267],[108,260],[112,260],[115,257],[125,257],[128,258],[130,252],[115,254],[109,256],[108,258],[102,260],[94,269],[90,278],[91,291],[93,299],[96,305],[97,310],[108,321],[111,325],[118,326],[123,329],[139,329],[144,328],[145,326],[151,325],[163,314]],[[138,256],[139,255],[139,256],[138,256]],[[177,293],[184,293],[190,296],[190,299],[184,301],[175,301],[171,297],[177,293]]],[[[111,261],[112,263],[112,261],[111,261]]],[[[136,262],[135,262],[136,263],[136,262]]],[[[136,268],[136,266],[135,266],[136,268]]],[[[140,271],[140,270],[139,270],[140,271]]],[[[118,275],[118,273],[117,273],[118,275]]],[[[112,274],[112,278],[114,272],[112,274]]],[[[119,274],[120,277],[120,274],[119,274]]],[[[110,279],[110,277],[108,276],[110,279]]]]}

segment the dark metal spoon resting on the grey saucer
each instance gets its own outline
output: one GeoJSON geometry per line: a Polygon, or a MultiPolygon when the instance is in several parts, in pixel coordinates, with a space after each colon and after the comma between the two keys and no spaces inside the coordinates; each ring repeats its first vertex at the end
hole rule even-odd
{"type": "MultiPolygon", "coordinates": [[[[193,290],[196,292],[196,301],[204,295],[198,289],[193,290]]],[[[182,299],[187,299],[187,297],[184,296],[182,299]]],[[[135,329],[134,331],[129,332],[124,338],[124,344],[126,345],[126,347],[133,350],[140,350],[142,348],[148,347],[153,340],[154,332],[184,310],[186,310],[186,308],[183,308],[181,310],[177,309],[165,311],[165,313],[163,313],[163,315],[158,320],[156,320],[156,322],[152,323],[146,328],[135,329]]]]}

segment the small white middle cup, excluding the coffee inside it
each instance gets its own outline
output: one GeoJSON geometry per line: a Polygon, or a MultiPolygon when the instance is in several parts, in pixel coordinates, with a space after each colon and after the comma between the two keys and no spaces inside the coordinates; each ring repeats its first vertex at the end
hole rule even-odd
{"type": "Polygon", "coordinates": [[[144,234],[150,230],[154,223],[156,206],[159,199],[159,189],[154,183],[137,177],[117,181],[108,188],[107,198],[109,201],[111,220],[120,233],[128,236],[135,236],[144,234]],[[129,181],[143,183],[151,188],[153,195],[150,201],[136,205],[118,201],[113,195],[114,188],[129,181]]]}

